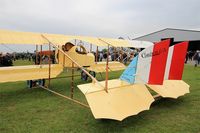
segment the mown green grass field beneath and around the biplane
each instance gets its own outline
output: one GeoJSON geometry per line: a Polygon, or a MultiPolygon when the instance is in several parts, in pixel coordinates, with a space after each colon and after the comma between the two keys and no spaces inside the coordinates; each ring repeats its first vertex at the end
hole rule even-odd
{"type": "MultiPolygon", "coordinates": [[[[110,78],[117,78],[120,74],[110,73],[110,78]]],[[[65,70],[60,76],[64,75],[70,75],[70,71],[65,70]]],[[[85,83],[80,77],[75,79],[76,85],[85,83]]],[[[96,120],[89,109],[41,88],[27,89],[25,81],[2,83],[0,133],[200,133],[200,67],[186,65],[183,80],[191,86],[190,94],[176,100],[158,100],[150,110],[122,122],[96,120]]],[[[54,79],[51,88],[69,96],[70,79],[54,79]]],[[[75,98],[86,103],[78,88],[75,88],[75,98]]]]}

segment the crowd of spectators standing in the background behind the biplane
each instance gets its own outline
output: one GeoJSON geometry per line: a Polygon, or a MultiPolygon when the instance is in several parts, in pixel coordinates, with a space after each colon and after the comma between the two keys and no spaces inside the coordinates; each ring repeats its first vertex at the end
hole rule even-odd
{"type": "MultiPolygon", "coordinates": [[[[95,56],[95,61],[101,62],[106,61],[107,58],[109,61],[120,61],[126,64],[128,61],[131,61],[137,54],[139,53],[139,50],[114,50],[113,48],[109,49],[109,52],[105,49],[102,51],[98,51],[98,54],[93,52],[95,56]],[[97,56],[97,57],[96,57],[97,56]],[[108,56],[108,57],[107,57],[108,56]]],[[[51,54],[51,62],[55,64],[55,56],[51,54]]],[[[42,61],[44,64],[48,63],[48,55],[40,55],[36,53],[0,53],[0,66],[12,66],[13,61],[15,60],[29,60],[34,62],[35,64],[40,64],[40,61],[42,61]],[[42,58],[42,59],[41,59],[42,58]]],[[[191,61],[195,62],[195,67],[200,65],[200,51],[188,51],[185,59],[185,63],[188,63],[191,61]]]]}

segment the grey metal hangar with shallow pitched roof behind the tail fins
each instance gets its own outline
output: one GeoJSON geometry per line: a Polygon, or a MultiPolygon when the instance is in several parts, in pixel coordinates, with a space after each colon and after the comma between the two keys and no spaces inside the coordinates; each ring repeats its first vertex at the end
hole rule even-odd
{"type": "Polygon", "coordinates": [[[182,41],[189,41],[188,51],[200,50],[200,31],[196,30],[166,28],[133,40],[159,42],[164,39],[172,39],[172,45],[182,41]]]}

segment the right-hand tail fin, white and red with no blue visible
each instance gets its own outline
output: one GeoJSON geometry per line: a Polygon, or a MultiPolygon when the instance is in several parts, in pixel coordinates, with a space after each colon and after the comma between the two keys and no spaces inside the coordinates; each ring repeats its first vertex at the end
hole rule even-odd
{"type": "Polygon", "coordinates": [[[188,42],[181,42],[169,48],[164,79],[182,79],[187,48],[188,42]]]}

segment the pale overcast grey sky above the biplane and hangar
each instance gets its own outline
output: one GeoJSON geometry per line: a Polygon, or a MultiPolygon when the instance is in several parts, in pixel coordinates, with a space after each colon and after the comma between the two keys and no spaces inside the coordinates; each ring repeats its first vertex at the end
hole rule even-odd
{"type": "Polygon", "coordinates": [[[0,0],[0,29],[132,39],[164,28],[200,30],[200,0],[0,0]]]}

